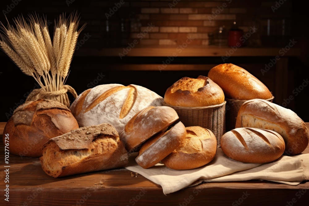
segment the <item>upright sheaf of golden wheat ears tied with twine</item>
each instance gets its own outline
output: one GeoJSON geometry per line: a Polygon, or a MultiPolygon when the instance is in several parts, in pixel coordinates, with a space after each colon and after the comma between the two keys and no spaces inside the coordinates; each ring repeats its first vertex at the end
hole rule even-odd
{"type": "Polygon", "coordinates": [[[55,20],[53,41],[49,35],[46,18],[36,14],[14,19],[15,26],[1,23],[0,48],[15,62],[20,70],[32,76],[41,86],[33,90],[26,101],[51,99],[70,107],[67,92],[77,98],[76,91],[65,85],[70,64],[83,25],[78,29],[79,16],[65,14],[55,20]]]}

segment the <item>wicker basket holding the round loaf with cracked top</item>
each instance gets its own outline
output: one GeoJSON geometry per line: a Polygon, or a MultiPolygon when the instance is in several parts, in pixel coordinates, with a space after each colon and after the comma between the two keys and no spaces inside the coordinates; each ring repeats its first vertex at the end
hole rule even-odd
{"type": "Polygon", "coordinates": [[[174,124],[181,121],[184,126],[200,126],[210,129],[217,139],[217,146],[220,146],[220,140],[225,133],[225,104],[209,106],[209,107],[177,107],[167,103],[163,103],[163,106],[172,107],[175,109],[179,116],[174,124]]]}

